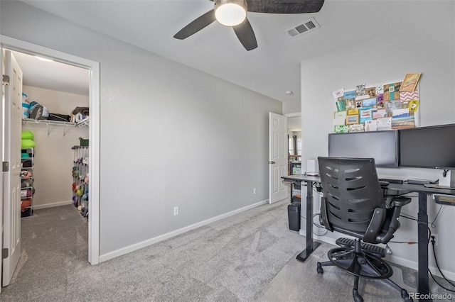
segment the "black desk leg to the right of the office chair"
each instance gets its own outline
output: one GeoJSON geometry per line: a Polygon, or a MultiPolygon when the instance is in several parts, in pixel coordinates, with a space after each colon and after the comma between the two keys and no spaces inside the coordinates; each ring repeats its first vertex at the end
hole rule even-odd
{"type": "MultiPolygon", "coordinates": [[[[419,192],[419,213],[417,213],[417,236],[418,236],[418,278],[417,292],[421,295],[429,293],[428,279],[428,216],[427,194],[419,192]]],[[[423,300],[422,300],[423,301],[423,300]]],[[[425,300],[431,301],[431,300],[425,300]]]]}

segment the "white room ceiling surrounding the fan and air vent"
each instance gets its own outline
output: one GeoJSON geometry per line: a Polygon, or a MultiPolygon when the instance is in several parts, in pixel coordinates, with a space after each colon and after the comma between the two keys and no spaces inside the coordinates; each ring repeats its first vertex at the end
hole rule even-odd
{"type": "MultiPolygon", "coordinates": [[[[387,47],[378,38],[450,13],[440,5],[444,0],[326,0],[319,13],[248,13],[258,47],[246,51],[232,28],[216,22],[186,40],[173,38],[213,9],[208,0],[23,2],[279,101],[300,99],[300,62],[365,40],[387,47]],[[287,35],[311,17],[321,28],[287,35]],[[294,94],[285,94],[289,90],[294,94]]],[[[28,77],[32,81],[31,74],[24,81],[28,77]]]]}

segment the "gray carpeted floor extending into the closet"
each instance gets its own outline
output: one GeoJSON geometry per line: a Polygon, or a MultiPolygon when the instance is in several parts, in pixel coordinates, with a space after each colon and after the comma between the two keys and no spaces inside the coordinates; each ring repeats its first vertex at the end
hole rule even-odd
{"type": "MultiPolygon", "coordinates": [[[[295,259],[305,239],[289,230],[287,204],[260,206],[96,266],[87,262],[87,221],[73,206],[37,210],[22,220],[21,259],[0,300],[352,301],[352,276],[336,267],[316,273],[331,245],[305,262],[295,259]]],[[[394,271],[412,291],[414,271],[394,271]]],[[[380,281],[361,281],[359,289],[365,301],[402,301],[380,281]]]]}

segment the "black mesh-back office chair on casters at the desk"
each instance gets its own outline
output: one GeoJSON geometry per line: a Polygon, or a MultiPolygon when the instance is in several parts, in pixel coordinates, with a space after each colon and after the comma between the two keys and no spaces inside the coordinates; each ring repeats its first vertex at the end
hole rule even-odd
{"type": "Polygon", "coordinates": [[[355,237],[355,240],[338,238],[340,247],[328,251],[328,262],[318,262],[322,267],[337,266],[354,275],[353,298],[362,302],[358,293],[359,278],[383,279],[401,292],[405,301],[412,301],[405,289],[388,279],[393,271],[383,261],[385,249],[378,244],[387,243],[400,228],[398,217],[401,207],[411,198],[397,196],[388,207],[376,174],[373,158],[354,159],[318,157],[323,198],[320,220],[331,232],[337,231],[355,237]],[[368,242],[368,243],[365,243],[368,242]]]}

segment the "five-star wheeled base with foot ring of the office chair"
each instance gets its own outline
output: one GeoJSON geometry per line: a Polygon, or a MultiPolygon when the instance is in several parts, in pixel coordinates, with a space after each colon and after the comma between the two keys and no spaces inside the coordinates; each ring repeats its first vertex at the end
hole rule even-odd
{"type": "Polygon", "coordinates": [[[318,262],[318,274],[323,274],[322,267],[327,266],[336,266],[345,272],[353,274],[353,298],[355,302],[363,302],[362,296],[358,293],[358,282],[360,278],[382,279],[400,291],[401,297],[405,301],[412,301],[412,298],[410,298],[405,289],[402,289],[402,287],[389,279],[393,274],[392,267],[381,259],[381,257],[385,257],[385,249],[375,245],[368,245],[367,243],[361,242],[358,238],[355,238],[355,240],[338,238],[336,243],[340,247],[333,248],[327,253],[330,261],[318,262]]]}

